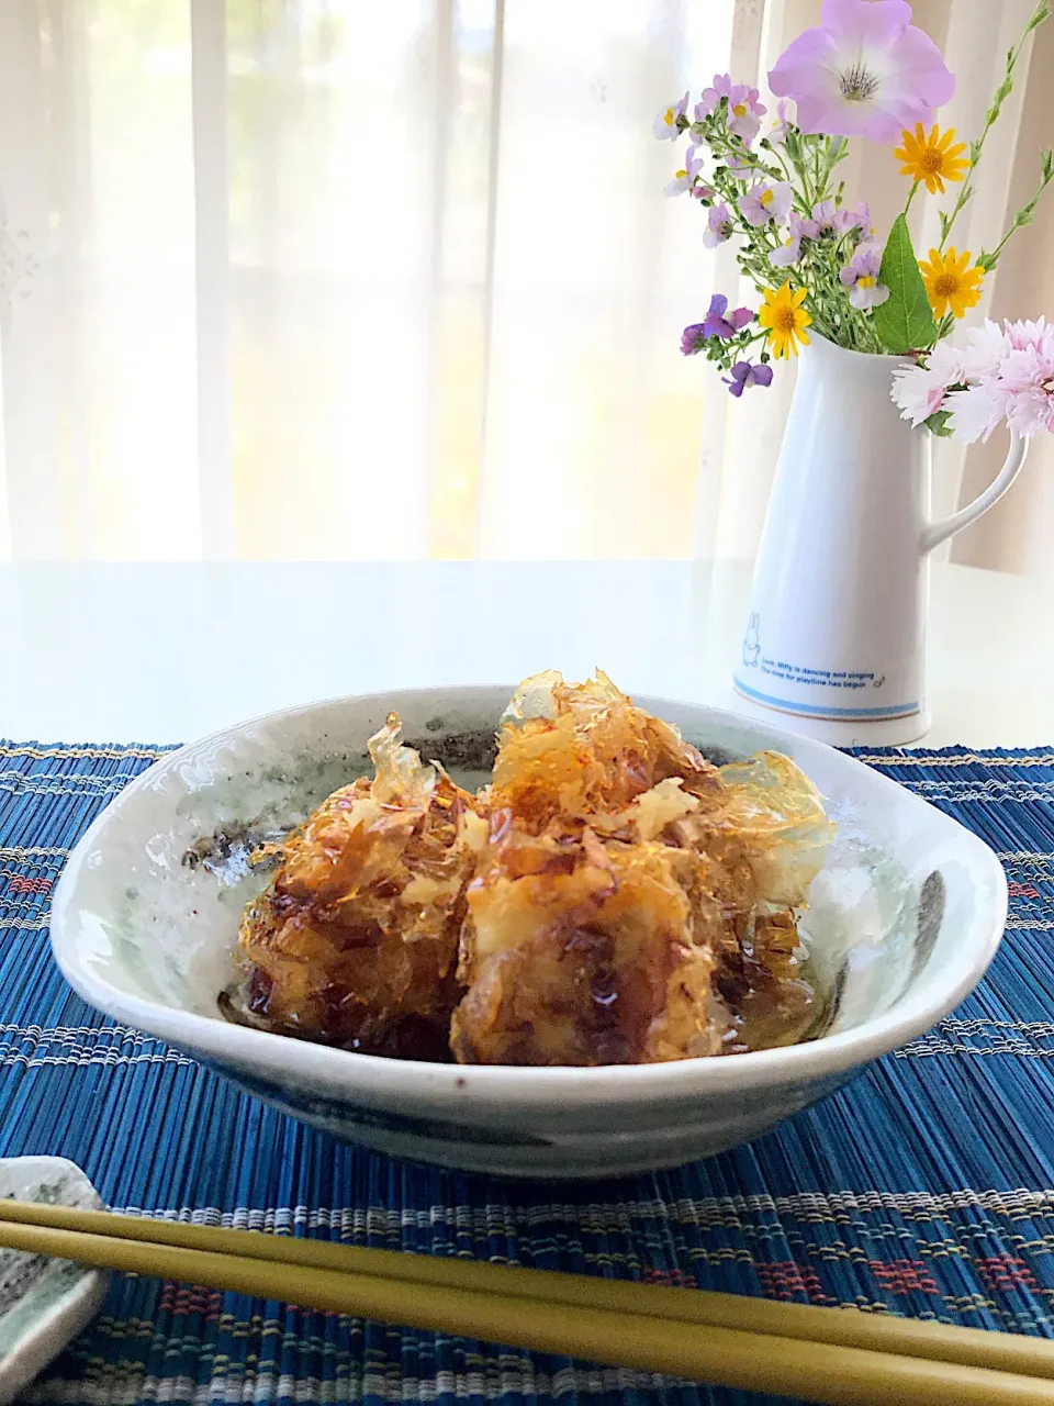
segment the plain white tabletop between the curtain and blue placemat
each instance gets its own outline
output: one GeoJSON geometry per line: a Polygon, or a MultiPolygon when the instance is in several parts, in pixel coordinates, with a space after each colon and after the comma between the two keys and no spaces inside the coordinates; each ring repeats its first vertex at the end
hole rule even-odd
{"type": "MultiPolygon", "coordinates": [[[[177,742],[341,693],[594,665],[794,728],[731,689],[748,586],[742,562],[3,565],[0,735],[177,742]]],[[[1054,742],[1046,634],[1023,578],[936,567],[920,745],[1054,742]]]]}

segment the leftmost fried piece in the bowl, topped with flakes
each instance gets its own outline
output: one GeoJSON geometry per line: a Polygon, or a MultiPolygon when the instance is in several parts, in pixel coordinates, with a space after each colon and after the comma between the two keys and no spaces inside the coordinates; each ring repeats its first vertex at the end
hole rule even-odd
{"type": "Polygon", "coordinates": [[[448,1059],[464,889],[486,834],[472,796],[399,745],[284,845],[242,921],[247,1005],[270,1028],[375,1054],[448,1059]]]}

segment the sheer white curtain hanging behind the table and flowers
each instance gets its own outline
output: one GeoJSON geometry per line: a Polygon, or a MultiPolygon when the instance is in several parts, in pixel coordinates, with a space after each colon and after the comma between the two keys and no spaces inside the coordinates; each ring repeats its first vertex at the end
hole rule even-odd
{"type": "MultiPolygon", "coordinates": [[[[663,200],[651,120],[714,70],[763,75],[818,10],[0,7],[0,557],[749,555],[791,377],[736,404],[680,357],[735,264],[663,200]]],[[[918,0],[964,132],[1027,10],[1005,0],[982,27],[974,0],[918,0]]],[[[1044,67],[1054,28],[971,247],[1050,139],[1044,67]]],[[[902,194],[890,153],[852,180],[881,228],[902,194]]],[[[916,215],[922,236],[933,212],[916,215]]],[[[1023,233],[991,311],[1051,307],[1050,249],[1023,233]]],[[[994,453],[942,446],[939,506],[994,453]]],[[[1041,564],[1050,482],[1033,464],[958,554],[1041,564]]]]}

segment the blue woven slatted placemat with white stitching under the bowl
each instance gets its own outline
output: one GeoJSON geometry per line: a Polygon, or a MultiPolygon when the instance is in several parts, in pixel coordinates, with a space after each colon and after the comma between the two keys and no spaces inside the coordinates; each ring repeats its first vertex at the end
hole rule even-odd
{"type": "MultiPolygon", "coordinates": [[[[162,751],[0,744],[0,1156],[72,1157],[115,1209],[1054,1336],[1053,752],[860,754],[1006,865],[1006,941],[953,1017],[748,1147],[554,1188],[341,1146],[70,991],[49,894],[162,751]]],[[[24,1399],[496,1398],[763,1399],[119,1275],[24,1399]]]]}

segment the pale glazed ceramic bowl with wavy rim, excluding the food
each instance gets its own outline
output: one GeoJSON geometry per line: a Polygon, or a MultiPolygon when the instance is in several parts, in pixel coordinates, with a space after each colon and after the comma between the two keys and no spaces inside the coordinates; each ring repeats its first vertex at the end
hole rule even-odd
{"type": "Polygon", "coordinates": [[[606,1069],[378,1059],[225,1021],[240,911],[263,879],[238,839],[282,830],[367,769],[398,709],[405,737],[468,785],[510,689],[426,689],[274,713],[164,756],[74,849],[52,946],[70,984],[316,1128],[417,1161],[517,1177],[672,1167],[759,1136],[947,1014],[988,966],[1006,920],[995,855],[956,821],[852,758],[760,723],[641,697],[714,759],[776,748],[828,799],[838,839],[811,891],[826,1032],[787,1049],[606,1069]],[[218,841],[211,837],[219,837],[218,841]],[[212,868],[187,852],[209,851],[212,868]]]}

